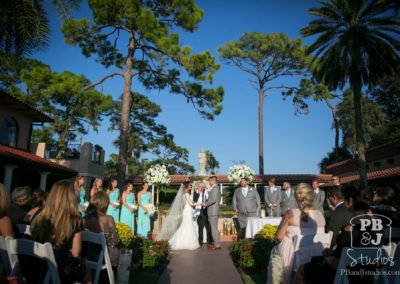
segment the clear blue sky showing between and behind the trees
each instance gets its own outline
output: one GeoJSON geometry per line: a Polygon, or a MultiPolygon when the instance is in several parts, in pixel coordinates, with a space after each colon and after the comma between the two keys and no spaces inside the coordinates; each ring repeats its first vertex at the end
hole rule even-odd
{"type": "MultiPolygon", "coordinates": [[[[310,7],[317,7],[313,0],[201,0],[197,5],[205,12],[199,31],[180,33],[183,45],[193,52],[210,50],[217,57],[217,48],[228,41],[238,39],[244,32],[286,33],[290,38],[300,37],[299,30],[313,18],[307,14],[310,7]]],[[[50,7],[50,6],[49,6],[50,7]]],[[[51,17],[50,46],[34,57],[50,65],[53,71],[65,70],[84,74],[96,82],[114,71],[106,69],[94,58],[85,58],[79,47],[63,43],[60,21],[49,8],[51,17]]],[[[74,17],[90,17],[86,4],[73,14],[74,17]]],[[[304,39],[310,44],[312,39],[304,39]]],[[[126,46],[126,41],[120,46],[126,46]]],[[[210,150],[220,162],[219,174],[226,174],[234,161],[245,160],[258,172],[258,95],[247,81],[247,73],[222,64],[215,74],[214,87],[223,86],[224,110],[214,121],[200,117],[192,105],[182,96],[167,90],[147,92],[134,82],[133,91],[142,92],[162,107],[158,122],[167,126],[177,145],[189,150],[189,162],[198,170],[197,155],[201,149],[210,150]]],[[[296,79],[274,82],[296,84],[296,79]]],[[[122,93],[120,78],[107,80],[103,92],[117,99],[122,93]]],[[[266,174],[318,173],[318,162],[334,146],[334,131],[329,108],[323,103],[310,102],[310,114],[295,116],[290,100],[283,101],[279,91],[271,92],[264,101],[264,171],[266,174]]],[[[84,141],[105,148],[106,159],[118,153],[112,145],[118,132],[109,132],[105,118],[98,133],[90,130],[84,141]]],[[[151,156],[144,155],[145,158],[151,156]]]]}

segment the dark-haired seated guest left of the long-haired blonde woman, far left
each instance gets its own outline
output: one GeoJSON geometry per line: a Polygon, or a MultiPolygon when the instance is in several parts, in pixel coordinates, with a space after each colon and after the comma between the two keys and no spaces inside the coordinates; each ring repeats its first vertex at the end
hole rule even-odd
{"type": "Polygon", "coordinates": [[[26,215],[25,207],[31,196],[31,189],[28,186],[16,187],[11,193],[11,204],[8,208],[8,217],[14,225],[22,224],[26,215]]]}

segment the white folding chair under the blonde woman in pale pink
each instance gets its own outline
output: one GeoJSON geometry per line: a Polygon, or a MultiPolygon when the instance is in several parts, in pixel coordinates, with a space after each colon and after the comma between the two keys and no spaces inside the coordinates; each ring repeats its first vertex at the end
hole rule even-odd
{"type": "Polygon", "coordinates": [[[293,271],[297,271],[299,268],[300,254],[299,248],[300,246],[308,246],[312,244],[324,244],[326,247],[331,246],[333,232],[329,231],[328,233],[320,233],[320,234],[309,234],[309,235],[296,235],[293,238],[293,251],[294,251],[294,259],[293,259],[293,271]]]}

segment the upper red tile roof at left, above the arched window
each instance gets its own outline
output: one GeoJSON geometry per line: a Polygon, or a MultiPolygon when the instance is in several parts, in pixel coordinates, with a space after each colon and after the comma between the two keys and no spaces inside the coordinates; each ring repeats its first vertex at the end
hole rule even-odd
{"type": "Polygon", "coordinates": [[[31,117],[35,122],[53,122],[54,119],[49,115],[35,109],[26,102],[11,96],[10,94],[0,90],[0,103],[7,107],[17,110],[18,112],[31,117]]]}

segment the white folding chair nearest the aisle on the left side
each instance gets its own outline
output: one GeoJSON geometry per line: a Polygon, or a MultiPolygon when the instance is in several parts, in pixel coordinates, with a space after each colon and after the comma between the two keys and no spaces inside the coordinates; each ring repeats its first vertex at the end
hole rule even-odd
{"type": "Polygon", "coordinates": [[[88,231],[82,231],[82,243],[93,243],[101,246],[101,251],[98,255],[97,261],[92,261],[86,259],[88,264],[90,265],[90,269],[95,270],[95,277],[93,280],[93,284],[99,283],[100,272],[103,269],[107,269],[108,279],[111,284],[115,283],[114,280],[114,272],[112,270],[110,255],[108,254],[106,238],[104,233],[93,233],[88,231]]]}

